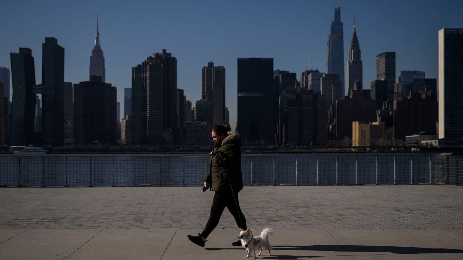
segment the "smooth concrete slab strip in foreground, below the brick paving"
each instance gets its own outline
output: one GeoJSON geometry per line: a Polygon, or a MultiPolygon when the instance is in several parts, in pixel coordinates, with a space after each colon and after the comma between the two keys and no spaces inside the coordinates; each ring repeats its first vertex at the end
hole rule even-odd
{"type": "MultiPolygon", "coordinates": [[[[0,229],[0,259],[8,260],[232,260],[235,229],[216,229],[206,247],[186,238],[200,229],[0,229]]],[[[254,231],[254,235],[259,233],[254,231]]],[[[463,258],[462,231],[276,229],[271,256],[250,259],[453,259],[463,258]]],[[[258,251],[257,251],[258,253],[258,251]]]]}

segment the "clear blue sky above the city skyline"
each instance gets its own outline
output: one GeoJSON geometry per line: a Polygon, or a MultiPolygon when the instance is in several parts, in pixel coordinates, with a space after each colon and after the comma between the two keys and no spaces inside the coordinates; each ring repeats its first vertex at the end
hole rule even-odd
{"type": "MultiPolygon", "coordinates": [[[[299,79],[310,53],[310,67],[325,72],[326,39],[337,4],[337,0],[3,1],[0,66],[11,67],[10,52],[31,48],[41,82],[42,43],[44,37],[55,37],[65,48],[65,81],[88,80],[98,13],[106,82],[117,85],[121,117],[131,67],[167,49],[178,61],[178,87],[193,104],[201,98],[201,68],[210,61],[225,66],[226,106],[234,128],[237,58],[273,57],[274,69],[296,72],[299,79]]],[[[376,55],[385,51],[396,52],[396,75],[416,69],[437,78],[438,30],[463,27],[460,0],[341,0],[340,6],[344,61],[355,13],[366,88],[376,77],[376,55]]]]}

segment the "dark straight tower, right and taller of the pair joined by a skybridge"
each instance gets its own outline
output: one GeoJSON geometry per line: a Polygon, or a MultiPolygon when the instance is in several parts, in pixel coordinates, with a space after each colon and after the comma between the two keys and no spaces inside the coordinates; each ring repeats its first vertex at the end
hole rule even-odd
{"type": "Polygon", "coordinates": [[[42,84],[34,87],[42,94],[42,140],[48,145],[64,141],[64,48],[53,37],[42,43],[42,84]]]}

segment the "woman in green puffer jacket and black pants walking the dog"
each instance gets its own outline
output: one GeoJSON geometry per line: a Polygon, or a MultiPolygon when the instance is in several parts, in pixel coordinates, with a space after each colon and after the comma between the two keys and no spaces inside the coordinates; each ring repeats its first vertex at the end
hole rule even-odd
{"type": "MultiPolygon", "coordinates": [[[[204,178],[204,188],[214,191],[211,214],[204,230],[197,236],[187,235],[188,239],[204,247],[206,238],[219,223],[225,207],[232,213],[238,228],[246,229],[246,219],[239,207],[238,192],[243,189],[241,179],[241,140],[238,132],[231,132],[230,125],[216,125],[212,130],[215,143],[211,158],[210,172],[204,178]]],[[[233,246],[241,246],[235,241],[233,246]]]]}

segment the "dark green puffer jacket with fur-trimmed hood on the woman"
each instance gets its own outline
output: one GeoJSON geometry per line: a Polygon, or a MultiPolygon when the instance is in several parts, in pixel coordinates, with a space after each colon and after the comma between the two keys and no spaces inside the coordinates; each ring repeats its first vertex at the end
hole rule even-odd
{"type": "Polygon", "coordinates": [[[241,179],[241,140],[238,132],[227,133],[218,144],[217,152],[211,158],[211,171],[206,174],[204,181],[214,192],[239,192],[243,189],[241,179]]]}

